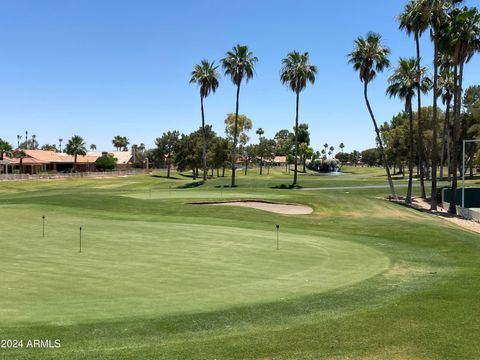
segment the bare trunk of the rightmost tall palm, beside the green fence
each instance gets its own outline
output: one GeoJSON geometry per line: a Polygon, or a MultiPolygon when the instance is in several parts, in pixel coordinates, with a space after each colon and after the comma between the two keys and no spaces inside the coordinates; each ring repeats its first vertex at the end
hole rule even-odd
{"type": "Polygon", "coordinates": [[[454,83],[455,83],[455,100],[453,102],[454,108],[454,124],[452,135],[452,194],[450,196],[450,206],[448,212],[450,214],[457,214],[457,186],[458,186],[458,133],[460,130],[460,108],[461,108],[461,96],[462,96],[462,77],[463,77],[463,63],[459,66],[455,65],[454,70],[454,83]],[[460,74],[458,74],[458,68],[460,67],[460,74]]]}

